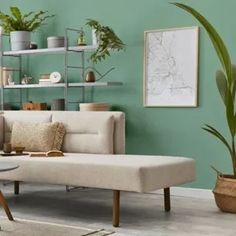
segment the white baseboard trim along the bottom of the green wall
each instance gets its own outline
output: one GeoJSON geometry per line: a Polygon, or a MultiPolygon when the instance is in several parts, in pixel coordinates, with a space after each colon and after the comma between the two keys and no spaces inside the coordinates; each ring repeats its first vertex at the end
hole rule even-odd
{"type": "MultiPolygon", "coordinates": [[[[152,193],[163,194],[163,190],[157,190],[152,193]]],[[[210,189],[171,187],[170,194],[178,197],[192,197],[200,199],[213,199],[213,193],[210,189]]]]}

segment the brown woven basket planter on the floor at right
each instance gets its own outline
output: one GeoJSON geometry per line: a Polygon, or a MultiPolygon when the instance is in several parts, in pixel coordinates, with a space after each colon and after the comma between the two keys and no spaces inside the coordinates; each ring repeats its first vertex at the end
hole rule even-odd
{"type": "Polygon", "coordinates": [[[213,193],[221,211],[236,213],[236,179],[233,176],[218,175],[213,193]]]}

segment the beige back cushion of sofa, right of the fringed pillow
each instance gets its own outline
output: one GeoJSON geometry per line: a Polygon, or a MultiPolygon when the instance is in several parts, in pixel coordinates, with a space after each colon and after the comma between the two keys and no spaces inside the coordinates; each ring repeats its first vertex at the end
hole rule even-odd
{"type": "Polygon", "coordinates": [[[66,135],[64,152],[113,154],[114,116],[103,112],[53,113],[53,122],[62,122],[66,135]]]}

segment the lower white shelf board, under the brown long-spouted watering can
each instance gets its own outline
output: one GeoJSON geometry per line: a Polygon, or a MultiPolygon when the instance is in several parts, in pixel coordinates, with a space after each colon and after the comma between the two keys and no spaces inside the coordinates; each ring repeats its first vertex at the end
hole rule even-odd
{"type": "MultiPolygon", "coordinates": [[[[122,82],[93,82],[93,83],[68,83],[68,87],[102,87],[102,86],[121,86],[122,82]]],[[[64,88],[65,83],[58,84],[15,84],[5,85],[4,89],[24,89],[24,88],[64,88]]]]}

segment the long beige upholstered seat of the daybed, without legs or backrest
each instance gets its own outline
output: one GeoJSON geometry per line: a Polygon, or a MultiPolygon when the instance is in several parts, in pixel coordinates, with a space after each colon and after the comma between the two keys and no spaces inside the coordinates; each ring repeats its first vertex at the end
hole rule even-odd
{"type": "Polygon", "coordinates": [[[0,173],[0,179],[148,192],[195,178],[195,162],[183,157],[67,153],[11,160],[20,167],[0,173]]]}

